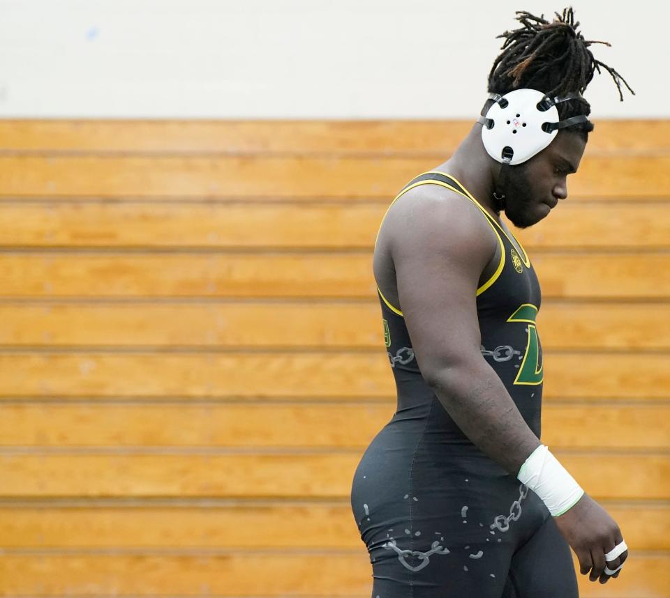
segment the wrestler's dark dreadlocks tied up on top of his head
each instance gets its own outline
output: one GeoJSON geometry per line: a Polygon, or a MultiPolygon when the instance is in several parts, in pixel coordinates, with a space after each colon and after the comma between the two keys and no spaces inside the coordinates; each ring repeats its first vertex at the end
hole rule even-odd
{"type": "MultiPolygon", "coordinates": [[[[489,93],[504,95],[519,88],[542,91],[546,95],[565,95],[579,92],[593,79],[600,67],[609,72],[623,102],[621,83],[634,95],[626,80],[616,70],[596,60],[588,47],[591,44],[608,42],[587,41],[577,31],[579,21],[574,21],[572,6],[563,9],[563,14],[554,13],[553,22],[544,20],[544,14],[536,17],[526,10],[516,11],[516,20],[523,24],[514,31],[505,31],[496,38],[505,38],[502,52],[493,62],[489,72],[489,93]]],[[[491,101],[491,100],[489,100],[491,101]]],[[[487,102],[486,108],[490,106],[487,102]]],[[[575,98],[556,105],[561,119],[591,112],[590,104],[583,98],[575,98]]],[[[565,130],[578,132],[584,141],[593,131],[593,123],[586,121],[566,127],[565,130]]]]}

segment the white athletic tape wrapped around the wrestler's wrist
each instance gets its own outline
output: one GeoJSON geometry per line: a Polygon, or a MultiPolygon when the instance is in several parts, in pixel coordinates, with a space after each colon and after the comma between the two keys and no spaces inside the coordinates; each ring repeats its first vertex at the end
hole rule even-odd
{"type": "Polygon", "coordinates": [[[516,477],[542,499],[554,517],[574,507],[584,493],[545,445],[530,453],[516,477]]]}

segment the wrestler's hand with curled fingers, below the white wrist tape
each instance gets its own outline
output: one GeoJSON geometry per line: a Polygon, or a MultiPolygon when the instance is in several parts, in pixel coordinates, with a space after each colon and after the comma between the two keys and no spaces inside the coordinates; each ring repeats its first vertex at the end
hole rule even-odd
{"type": "Polygon", "coordinates": [[[605,565],[609,569],[616,569],[628,558],[628,551],[605,562],[606,553],[620,544],[623,536],[616,521],[593,498],[585,492],[573,507],[553,520],[576,553],[582,575],[590,571],[589,581],[600,578],[600,583],[607,583],[609,578],[618,577],[621,570],[607,575],[604,572],[605,565]]]}

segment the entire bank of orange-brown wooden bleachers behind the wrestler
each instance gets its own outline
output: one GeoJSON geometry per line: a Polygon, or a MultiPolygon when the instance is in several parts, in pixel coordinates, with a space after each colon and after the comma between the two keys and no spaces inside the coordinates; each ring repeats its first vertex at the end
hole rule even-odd
{"type": "MultiPolygon", "coordinates": [[[[0,121],[0,595],[368,598],[375,233],[470,126],[0,121]]],[[[542,440],[630,548],[584,598],[670,597],[668,139],[597,122],[517,235],[542,440]]]]}

